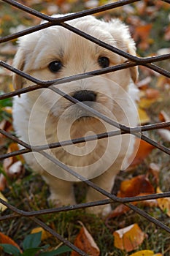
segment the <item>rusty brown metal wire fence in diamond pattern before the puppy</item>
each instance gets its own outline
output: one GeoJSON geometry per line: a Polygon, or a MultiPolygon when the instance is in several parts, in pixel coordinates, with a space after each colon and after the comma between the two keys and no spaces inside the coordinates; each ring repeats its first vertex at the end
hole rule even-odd
{"type": "MultiPolygon", "coordinates": [[[[31,15],[42,18],[43,20],[47,20],[47,23],[42,23],[40,25],[33,26],[29,29],[25,29],[25,30],[17,32],[15,34],[10,34],[6,37],[1,37],[0,43],[8,42],[9,40],[16,39],[18,37],[22,37],[23,35],[26,35],[26,34],[31,34],[34,31],[39,31],[39,30],[48,28],[50,26],[61,26],[65,29],[69,29],[70,31],[74,32],[75,34],[80,35],[81,37],[84,37],[85,39],[90,40],[91,42],[96,43],[96,45],[100,45],[102,48],[106,48],[107,50],[110,50],[113,53],[117,53],[120,56],[125,57],[126,59],[128,59],[128,61],[125,62],[124,64],[117,64],[113,67],[107,67],[104,69],[98,69],[98,70],[86,72],[86,73],[79,74],[79,75],[72,75],[72,76],[69,76],[66,78],[47,80],[47,81],[36,79],[36,78],[32,77],[31,75],[26,74],[25,72],[15,69],[11,65],[7,64],[6,62],[0,61],[1,67],[4,67],[5,69],[9,69],[10,71],[12,71],[18,75],[21,75],[23,78],[26,78],[34,83],[34,86],[29,86],[27,88],[18,89],[16,91],[12,91],[7,94],[2,94],[2,95],[0,95],[0,100],[7,99],[9,97],[14,97],[15,95],[24,94],[28,91],[34,91],[39,88],[49,88],[49,89],[55,91],[56,94],[60,94],[62,97],[65,97],[69,101],[71,101],[73,103],[77,103],[77,102],[79,102],[77,99],[74,99],[73,97],[71,97],[69,95],[66,95],[63,91],[61,91],[59,89],[56,89],[56,87],[54,87],[53,84],[55,83],[55,85],[58,85],[61,83],[68,83],[68,82],[75,81],[75,80],[80,80],[80,79],[82,80],[82,79],[90,78],[93,75],[101,75],[101,74],[114,72],[114,71],[117,71],[120,69],[126,69],[129,67],[134,67],[134,66],[139,66],[139,65],[147,67],[148,69],[152,69],[155,72],[158,72],[159,74],[165,76],[166,78],[170,78],[170,72],[168,70],[162,69],[161,67],[158,67],[155,64],[155,62],[170,59],[170,53],[162,54],[160,56],[147,57],[147,58],[132,56],[131,54],[125,53],[123,50],[120,50],[111,45],[108,45],[108,44],[102,42],[101,40],[96,39],[95,37],[92,37],[89,34],[86,34],[85,32],[80,31],[79,29],[76,29],[74,26],[71,26],[68,23],[66,23],[66,21],[68,21],[68,20],[73,20],[76,18],[80,18],[82,16],[92,15],[92,14],[95,14],[98,12],[104,12],[107,10],[112,10],[117,7],[122,7],[125,4],[131,4],[131,3],[137,2],[136,0],[116,1],[116,2],[113,2],[110,4],[106,4],[104,6],[101,6],[101,7],[96,7],[96,8],[90,9],[90,10],[83,10],[82,12],[76,12],[74,14],[66,15],[66,16],[63,16],[60,18],[52,18],[48,15],[42,14],[41,12],[37,12],[36,10],[31,9],[30,7],[26,7],[23,4],[20,4],[14,0],[2,0],[2,1],[6,4],[17,7],[18,9],[20,9],[24,12],[28,12],[31,15]]],[[[140,0],[138,0],[138,1],[140,1],[140,0]]],[[[164,0],[164,2],[170,4],[169,0],[164,0]]],[[[166,230],[168,233],[170,233],[169,226],[163,224],[163,222],[159,221],[158,219],[155,219],[154,217],[150,216],[150,214],[147,214],[147,212],[143,211],[138,206],[134,206],[132,204],[134,201],[136,202],[136,201],[151,200],[151,199],[156,199],[156,198],[161,198],[161,197],[170,197],[170,192],[164,192],[161,194],[136,196],[136,197],[123,197],[123,198],[117,197],[117,196],[112,195],[111,193],[105,191],[104,189],[101,189],[101,187],[98,187],[92,181],[85,180],[85,178],[83,176],[80,176],[74,170],[70,169],[68,166],[66,166],[66,165],[62,164],[60,161],[58,161],[58,159],[55,159],[54,157],[47,154],[47,152],[45,152],[45,149],[47,149],[47,148],[57,148],[57,147],[61,147],[61,146],[69,146],[72,143],[76,144],[76,143],[87,142],[90,140],[102,140],[103,138],[108,138],[108,137],[115,136],[115,135],[121,136],[125,133],[131,133],[132,135],[139,137],[142,140],[145,140],[147,143],[150,143],[152,146],[155,146],[160,151],[163,151],[165,154],[170,154],[169,148],[166,148],[165,146],[161,145],[160,143],[157,143],[154,140],[151,140],[150,138],[148,138],[146,135],[144,135],[142,133],[144,131],[160,129],[163,127],[169,127],[170,121],[165,121],[165,122],[158,123],[158,124],[148,124],[148,125],[144,125],[142,127],[134,127],[134,128],[126,127],[122,124],[118,124],[116,121],[113,121],[110,118],[107,118],[107,116],[101,115],[101,113],[98,113],[96,110],[93,110],[92,108],[88,107],[87,105],[83,104],[82,102],[79,102],[79,105],[82,108],[84,108],[85,110],[90,111],[90,113],[93,113],[94,115],[96,115],[98,118],[101,118],[104,121],[108,122],[109,124],[112,124],[113,127],[119,127],[119,131],[118,132],[117,131],[116,132],[105,132],[105,133],[98,134],[97,136],[92,135],[92,136],[88,136],[85,138],[76,138],[74,140],[60,141],[58,143],[51,143],[51,144],[43,145],[43,146],[31,146],[28,143],[25,143],[25,142],[19,140],[11,133],[6,132],[3,129],[0,129],[1,135],[6,136],[7,138],[15,141],[16,143],[18,143],[24,147],[23,149],[18,150],[18,151],[14,151],[14,152],[7,153],[7,154],[1,154],[0,159],[5,159],[7,157],[14,157],[14,156],[18,156],[20,154],[26,154],[31,151],[39,152],[39,154],[42,154],[44,157],[47,157],[47,159],[50,159],[50,161],[52,161],[56,165],[59,165],[60,167],[62,167],[64,170],[66,170],[66,172],[72,174],[72,176],[79,178],[80,181],[85,182],[85,184],[88,184],[88,186],[92,187],[93,189],[96,189],[101,194],[107,196],[108,199],[91,202],[91,203],[80,203],[80,204],[77,204],[74,206],[63,206],[60,208],[43,209],[43,210],[39,210],[39,211],[22,211],[22,210],[16,208],[15,206],[12,206],[10,203],[7,203],[4,200],[0,199],[0,203],[2,203],[4,206],[7,206],[7,208],[9,208],[13,212],[12,214],[1,216],[0,221],[7,220],[7,219],[15,219],[18,217],[27,217],[27,218],[31,219],[31,221],[35,222],[37,225],[43,227],[45,230],[47,230],[49,233],[51,233],[53,236],[55,236],[55,238],[58,238],[64,244],[66,244],[67,246],[72,248],[72,250],[79,253],[79,255],[87,255],[87,254],[85,252],[82,252],[82,250],[77,248],[77,246],[74,246],[74,244],[72,244],[71,242],[69,242],[68,240],[63,238],[61,235],[56,233],[55,230],[53,230],[51,227],[49,227],[44,222],[39,220],[39,217],[42,214],[51,214],[51,213],[57,213],[57,212],[61,212],[61,211],[74,211],[79,208],[87,208],[87,207],[91,207],[91,206],[101,206],[104,204],[117,202],[117,203],[123,203],[125,206],[128,206],[128,208],[131,208],[133,211],[135,211],[137,214],[140,214],[142,217],[144,217],[148,221],[154,223],[158,227],[161,227],[163,230],[166,230]]]]}

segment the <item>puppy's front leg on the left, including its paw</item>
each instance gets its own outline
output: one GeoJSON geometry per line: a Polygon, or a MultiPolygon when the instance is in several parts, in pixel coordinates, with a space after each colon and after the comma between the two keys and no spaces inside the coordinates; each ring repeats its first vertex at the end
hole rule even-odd
{"type": "Polygon", "coordinates": [[[47,172],[43,173],[42,176],[50,187],[51,195],[48,200],[53,202],[55,206],[69,206],[76,203],[72,182],[55,178],[47,172]]]}

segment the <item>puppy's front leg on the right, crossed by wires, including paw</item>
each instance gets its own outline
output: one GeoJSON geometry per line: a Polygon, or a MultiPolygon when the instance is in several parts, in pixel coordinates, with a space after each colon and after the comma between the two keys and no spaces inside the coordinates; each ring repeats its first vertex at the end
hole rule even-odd
{"type": "MultiPolygon", "coordinates": [[[[107,172],[103,173],[101,176],[98,176],[97,178],[93,178],[93,183],[98,185],[98,187],[101,187],[102,189],[106,190],[107,192],[112,192],[112,187],[115,181],[115,176],[117,172],[115,170],[107,170],[107,172]]],[[[97,200],[104,200],[107,199],[105,195],[102,195],[92,187],[88,188],[88,193],[86,196],[86,202],[94,202],[97,200]]],[[[87,208],[87,211],[92,214],[102,214],[103,216],[106,216],[109,214],[110,211],[112,211],[112,208],[109,204],[104,206],[94,206],[87,208]]]]}

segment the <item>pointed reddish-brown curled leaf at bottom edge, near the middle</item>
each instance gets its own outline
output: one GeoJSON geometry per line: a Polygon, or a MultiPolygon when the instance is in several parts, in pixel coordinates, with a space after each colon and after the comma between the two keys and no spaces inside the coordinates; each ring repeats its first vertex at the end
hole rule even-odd
{"type": "MultiPolygon", "coordinates": [[[[93,237],[90,235],[84,225],[82,225],[80,233],[77,235],[77,238],[74,241],[74,245],[79,249],[82,249],[83,252],[88,253],[88,255],[100,255],[100,250],[98,249],[96,242],[93,240],[93,237]]],[[[79,256],[79,254],[77,252],[72,252],[71,256],[79,256]]]]}

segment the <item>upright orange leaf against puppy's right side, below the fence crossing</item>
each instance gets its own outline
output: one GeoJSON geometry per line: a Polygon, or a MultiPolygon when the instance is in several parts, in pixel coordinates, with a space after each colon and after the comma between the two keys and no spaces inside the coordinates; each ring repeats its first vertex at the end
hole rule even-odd
{"type": "Polygon", "coordinates": [[[134,167],[135,165],[139,165],[140,163],[142,163],[154,148],[155,147],[152,146],[150,143],[147,143],[144,140],[140,140],[139,138],[136,138],[136,142],[134,145],[135,157],[132,154],[132,159],[134,160],[131,162],[130,167],[134,167]],[[137,153],[136,153],[136,145],[137,146],[139,145],[137,153]]]}

